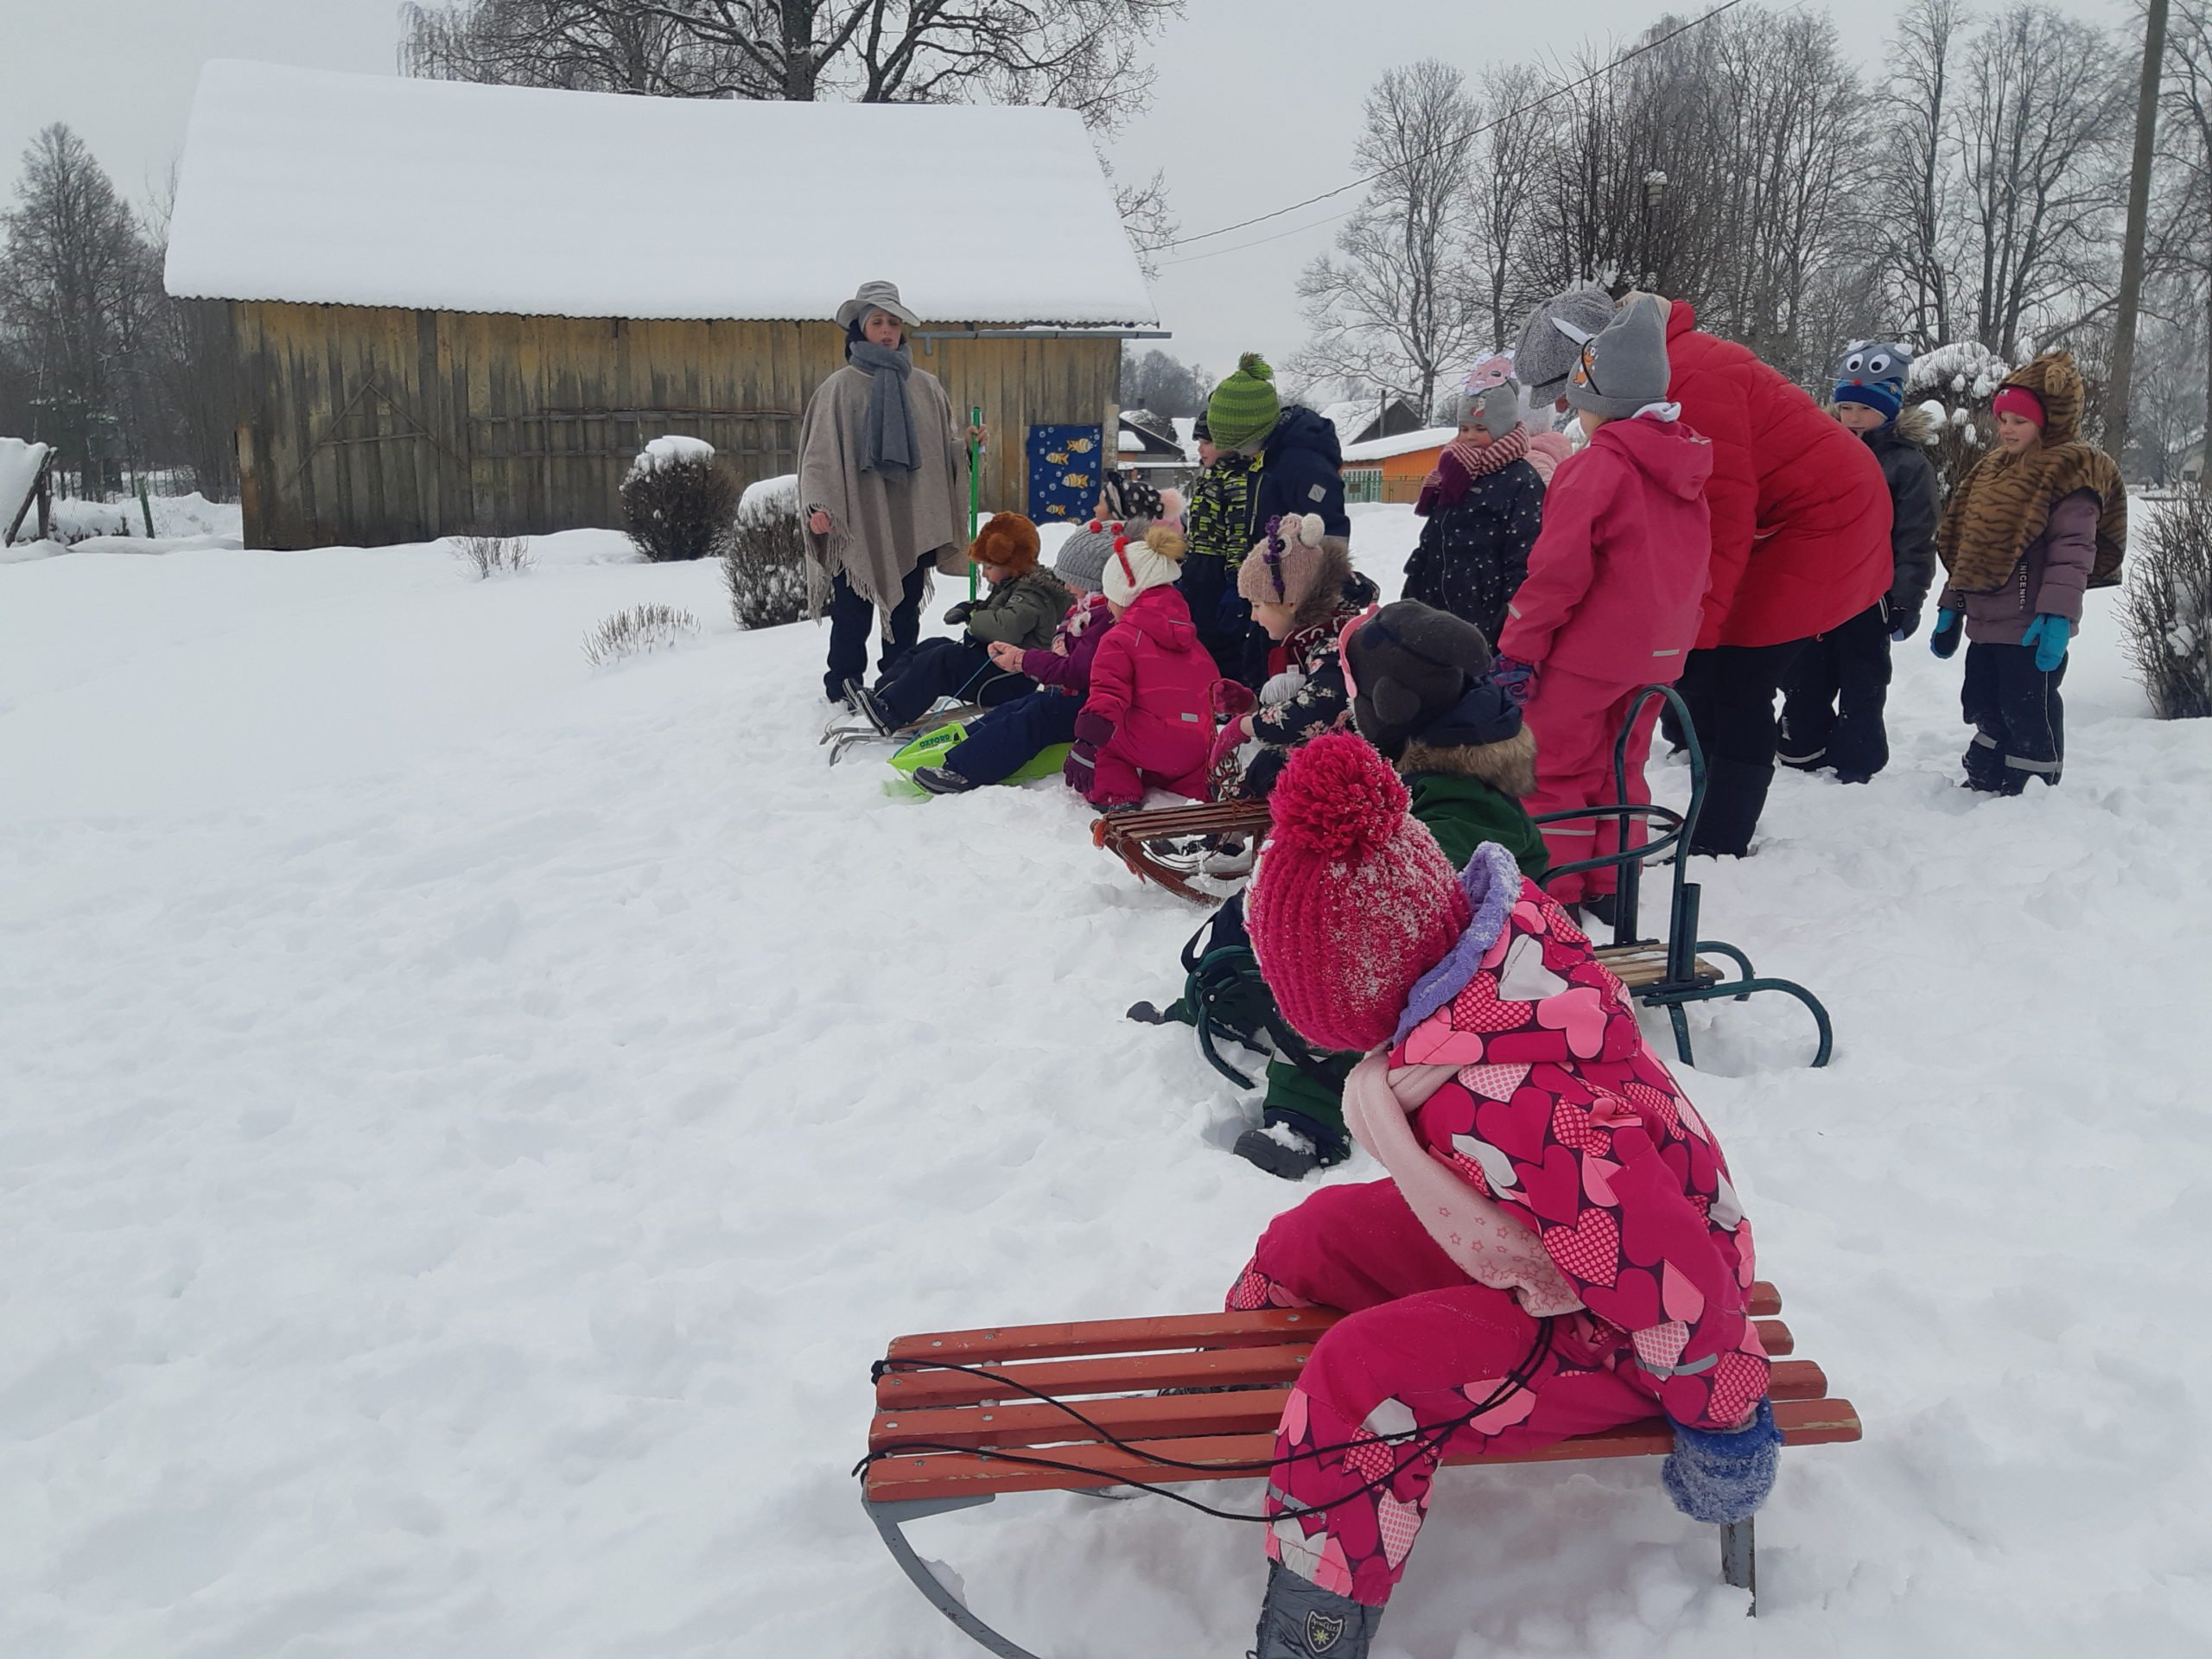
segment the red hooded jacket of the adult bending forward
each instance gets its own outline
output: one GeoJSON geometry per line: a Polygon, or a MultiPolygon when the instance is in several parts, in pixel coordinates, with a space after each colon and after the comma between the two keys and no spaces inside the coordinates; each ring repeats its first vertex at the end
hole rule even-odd
{"type": "Polygon", "coordinates": [[[1712,440],[1699,648],[1809,639],[1880,599],[1891,509],[1874,451],[1745,347],[1699,334],[1688,301],[1674,301],[1666,352],[1668,396],[1712,440]]]}

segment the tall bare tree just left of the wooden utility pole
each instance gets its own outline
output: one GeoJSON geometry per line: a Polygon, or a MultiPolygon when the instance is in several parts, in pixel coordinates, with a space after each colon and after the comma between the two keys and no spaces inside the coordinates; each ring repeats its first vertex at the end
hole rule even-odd
{"type": "Polygon", "coordinates": [[[2126,77],[2099,29],[2044,4],[1973,38],[1953,144],[1975,336],[2013,356],[2037,312],[2106,281],[2126,77]]]}

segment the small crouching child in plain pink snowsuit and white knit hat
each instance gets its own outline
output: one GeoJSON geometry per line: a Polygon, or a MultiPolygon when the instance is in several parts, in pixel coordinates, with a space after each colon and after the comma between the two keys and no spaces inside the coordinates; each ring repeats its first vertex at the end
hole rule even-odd
{"type": "Polygon", "coordinates": [[[1115,626],[1091,659],[1091,697],[1066,763],[1068,783],[1095,807],[1141,805],[1148,787],[1206,799],[1219,670],[1175,586],[1181,571],[1183,533],[1170,524],[1155,524],[1141,542],[1117,538],[1106,560],[1115,626]]]}

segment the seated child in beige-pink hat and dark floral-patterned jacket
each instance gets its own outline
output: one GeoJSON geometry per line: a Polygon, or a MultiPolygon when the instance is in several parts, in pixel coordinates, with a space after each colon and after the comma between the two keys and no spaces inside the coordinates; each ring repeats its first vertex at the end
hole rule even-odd
{"type": "Polygon", "coordinates": [[[1298,743],[1352,719],[1340,637],[1378,591],[1354,573],[1352,544],[1325,535],[1321,513],[1305,513],[1267,520],[1267,538],[1237,571],[1237,593],[1274,648],[1261,706],[1223,728],[1212,772],[1219,799],[1259,801],[1298,743]]]}

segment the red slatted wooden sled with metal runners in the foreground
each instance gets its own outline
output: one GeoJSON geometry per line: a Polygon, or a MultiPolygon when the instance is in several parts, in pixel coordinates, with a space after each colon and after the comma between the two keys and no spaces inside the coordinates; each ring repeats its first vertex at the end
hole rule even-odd
{"type": "MultiPolygon", "coordinates": [[[[1750,1312],[1774,1360],[1770,1389],[1783,1440],[1858,1440],[1858,1413],[1829,1398],[1820,1367],[1785,1358],[1796,1343],[1774,1318],[1774,1285],[1752,1285],[1750,1312]]],[[[1035,1659],[975,1617],[902,1528],[1000,1493],[1263,1480],[1290,1385],[1338,1318],[1327,1307],[1270,1307],[898,1336],[876,1363],[876,1416],[856,1471],[865,1475],[860,1502],[891,1559],[938,1613],[1000,1659],[1035,1659]],[[1064,1398],[1075,1402],[1060,1405],[1064,1398]]],[[[1648,1458],[1672,1447],[1666,1418],[1648,1418],[1524,1458],[1444,1462],[1648,1458]]],[[[1752,1522],[1721,1528],[1721,1577],[1750,1590],[1756,1613],[1752,1522]]]]}

